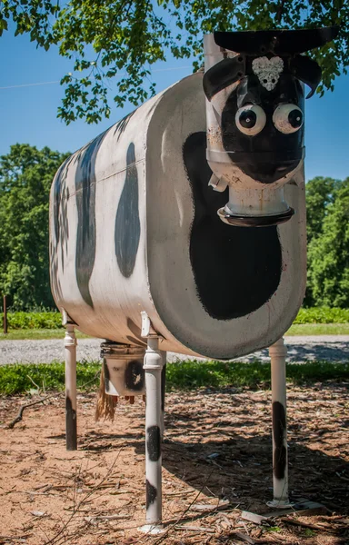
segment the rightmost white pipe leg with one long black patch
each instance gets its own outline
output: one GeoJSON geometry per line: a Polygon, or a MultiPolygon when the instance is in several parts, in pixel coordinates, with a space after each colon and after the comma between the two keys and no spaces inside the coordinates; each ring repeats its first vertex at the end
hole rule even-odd
{"type": "Polygon", "coordinates": [[[286,355],[284,339],[276,341],[269,354],[272,367],[273,402],[273,488],[274,500],[268,505],[288,507],[288,465],[286,427],[286,355]]]}

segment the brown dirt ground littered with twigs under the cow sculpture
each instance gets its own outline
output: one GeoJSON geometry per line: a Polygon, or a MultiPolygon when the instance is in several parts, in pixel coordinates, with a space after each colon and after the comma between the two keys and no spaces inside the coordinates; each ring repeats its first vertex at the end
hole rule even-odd
{"type": "Polygon", "coordinates": [[[67,452],[63,396],[5,428],[27,401],[0,399],[0,543],[349,543],[348,384],[288,389],[291,496],[326,509],[261,524],[242,511],[271,510],[271,392],[167,394],[166,525],[157,536],[137,530],[145,519],[144,402],[123,401],[113,423],[95,423],[95,394],[79,395],[79,450],[67,452]]]}

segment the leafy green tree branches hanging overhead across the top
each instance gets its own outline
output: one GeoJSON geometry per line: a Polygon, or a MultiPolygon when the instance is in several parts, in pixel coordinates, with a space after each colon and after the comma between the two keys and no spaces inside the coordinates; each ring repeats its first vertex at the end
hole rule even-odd
{"type": "Polygon", "coordinates": [[[202,61],[203,34],[225,30],[302,28],[340,25],[334,42],[313,52],[323,69],[319,92],[334,88],[349,63],[349,5],[345,0],[3,0],[0,35],[15,23],[15,34],[29,34],[46,50],[75,59],[65,74],[65,97],[58,117],[97,123],[109,117],[107,85],[122,76],[114,101],[138,105],[155,94],[151,66],[175,58],[202,61]]]}

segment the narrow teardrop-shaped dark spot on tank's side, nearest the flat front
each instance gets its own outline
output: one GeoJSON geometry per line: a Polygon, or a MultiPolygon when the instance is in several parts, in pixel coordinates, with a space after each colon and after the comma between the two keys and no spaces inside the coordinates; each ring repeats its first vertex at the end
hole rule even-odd
{"type": "Polygon", "coordinates": [[[128,146],[126,164],[125,185],[115,218],[115,255],[123,276],[129,278],[135,268],[135,258],[141,234],[134,144],[128,146]]]}

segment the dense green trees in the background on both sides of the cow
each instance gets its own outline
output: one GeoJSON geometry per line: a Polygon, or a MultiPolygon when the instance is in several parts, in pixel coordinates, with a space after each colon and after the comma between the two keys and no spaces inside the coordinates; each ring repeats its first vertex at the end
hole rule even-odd
{"type": "MultiPolygon", "coordinates": [[[[69,154],[11,146],[0,157],[0,293],[12,311],[54,309],[48,256],[49,192],[69,154]]],[[[349,307],[349,177],[306,183],[308,279],[304,306],[349,307]]]]}

